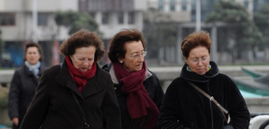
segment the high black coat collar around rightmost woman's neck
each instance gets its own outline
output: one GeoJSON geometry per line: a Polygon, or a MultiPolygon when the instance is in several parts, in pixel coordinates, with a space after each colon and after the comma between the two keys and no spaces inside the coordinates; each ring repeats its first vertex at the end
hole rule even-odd
{"type": "Polygon", "coordinates": [[[188,71],[187,64],[184,64],[180,73],[180,77],[189,81],[194,81],[194,82],[207,82],[210,80],[210,78],[213,78],[219,73],[218,66],[215,62],[210,61],[209,64],[211,65],[211,69],[207,71],[204,75],[200,75],[195,72],[188,71]]]}

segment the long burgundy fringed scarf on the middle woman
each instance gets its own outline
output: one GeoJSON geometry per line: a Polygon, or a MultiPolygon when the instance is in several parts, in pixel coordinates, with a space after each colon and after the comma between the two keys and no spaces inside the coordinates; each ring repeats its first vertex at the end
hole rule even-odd
{"type": "Polygon", "coordinates": [[[150,129],[157,126],[159,110],[155,103],[149,98],[143,81],[146,73],[146,63],[143,62],[141,71],[129,73],[119,62],[113,63],[117,79],[122,85],[122,93],[128,93],[127,110],[132,120],[147,116],[148,120],[141,128],[150,129]],[[149,114],[148,114],[149,111],[149,114]]]}

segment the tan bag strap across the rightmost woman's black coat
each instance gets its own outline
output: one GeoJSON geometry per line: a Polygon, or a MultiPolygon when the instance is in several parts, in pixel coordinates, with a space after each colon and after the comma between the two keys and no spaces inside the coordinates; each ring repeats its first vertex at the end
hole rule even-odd
{"type": "Polygon", "coordinates": [[[228,123],[228,122],[227,122],[227,119],[226,119],[226,116],[225,116],[225,114],[224,114],[224,113],[227,114],[228,111],[227,111],[225,108],[223,108],[223,107],[217,102],[217,100],[214,99],[213,96],[208,95],[207,93],[204,92],[204,90],[200,89],[199,87],[197,87],[197,86],[196,86],[195,84],[193,84],[192,82],[189,82],[189,81],[187,81],[187,82],[188,82],[192,87],[194,87],[196,90],[198,90],[200,93],[202,93],[204,96],[206,96],[206,97],[207,97],[210,101],[212,101],[215,105],[217,105],[218,108],[221,110],[221,113],[222,113],[222,115],[224,116],[226,123],[228,123]]]}

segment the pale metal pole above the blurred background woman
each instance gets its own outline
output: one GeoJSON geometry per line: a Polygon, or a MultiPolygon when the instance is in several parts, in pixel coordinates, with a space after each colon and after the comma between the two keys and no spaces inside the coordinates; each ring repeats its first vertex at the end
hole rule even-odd
{"type": "Polygon", "coordinates": [[[33,42],[38,43],[37,38],[37,0],[33,0],[33,42]]]}

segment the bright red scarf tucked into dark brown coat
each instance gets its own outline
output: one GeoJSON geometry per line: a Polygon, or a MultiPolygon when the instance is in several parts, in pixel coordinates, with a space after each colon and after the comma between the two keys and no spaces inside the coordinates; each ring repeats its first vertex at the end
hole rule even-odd
{"type": "Polygon", "coordinates": [[[81,92],[82,89],[85,87],[86,83],[88,82],[88,79],[91,79],[95,75],[96,62],[93,63],[91,69],[83,73],[82,71],[74,67],[69,56],[65,56],[65,61],[67,63],[68,73],[71,75],[72,79],[74,80],[78,89],[81,92]]]}

